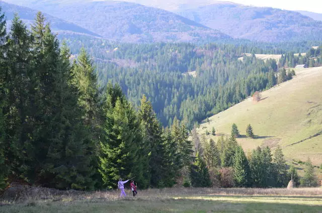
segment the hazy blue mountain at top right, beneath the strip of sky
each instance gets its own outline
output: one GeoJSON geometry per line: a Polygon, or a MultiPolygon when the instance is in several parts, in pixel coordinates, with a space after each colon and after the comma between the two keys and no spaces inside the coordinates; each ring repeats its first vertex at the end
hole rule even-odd
{"type": "Polygon", "coordinates": [[[269,42],[322,39],[322,22],[293,11],[221,2],[177,13],[234,38],[269,42]]]}

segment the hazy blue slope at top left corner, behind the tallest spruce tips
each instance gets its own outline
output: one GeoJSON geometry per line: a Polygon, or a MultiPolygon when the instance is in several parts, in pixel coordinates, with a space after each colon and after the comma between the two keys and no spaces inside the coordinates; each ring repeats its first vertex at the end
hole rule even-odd
{"type": "MultiPolygon", "coordinates": [[[[31,24],[36,17],[36,14],[38,11],[32,10],[30,8],[21,7],[13,4],[8,4],[5,2],[0,2],[0,6],[2,7],[3,12],[6,14],[7,20],[9,21],[14,18],[14,14],[18,13],[19,17],[27,24],[31,24]]],[[[50,23],[50,26],[53,31],[58,31],[60,33],[81,33],[81,34],[87,34],[91,36],[99,36],[98,34],[95,34],[89,30],[86,30],[82,27],[79,27],[75,24],[72,24],[70,22],[66,22],[62,19],[55,18],[53,16],[50,16],[48,14],[45,14],[45,17],[47,21],[50,23]]]]}

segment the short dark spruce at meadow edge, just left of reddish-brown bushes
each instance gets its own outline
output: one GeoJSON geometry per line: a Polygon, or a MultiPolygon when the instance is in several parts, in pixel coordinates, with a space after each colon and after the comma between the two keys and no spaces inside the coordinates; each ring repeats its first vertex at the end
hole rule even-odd
{"type": "Polygon", "coordinates": [[[190,167],[190,179],[193,187],[211,186],[208,168],[198,152],[194,163],[190,167]]]}

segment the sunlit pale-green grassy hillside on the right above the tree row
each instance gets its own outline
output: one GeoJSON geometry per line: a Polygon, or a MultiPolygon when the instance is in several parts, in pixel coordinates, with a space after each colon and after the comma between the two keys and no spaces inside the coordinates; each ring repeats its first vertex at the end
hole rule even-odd
{"type": "Polygon", "coordinates": [[[209,118],[198,129],[199,134],[216,129],[220,135],[230,133],[235,123],[241,137],[238,143],[245,150],[257,146],[274,149],[280,145],[288,159],[322,163],[322,67],[296,69],[296,76],[274,88],[262,92],[262,99],[255,103],[251,98],[209,118]],[[246,127],[251,124],[256,139],[249,139],[246,127]],[[315,137],[313,137],[315,135],[315,137]]]}

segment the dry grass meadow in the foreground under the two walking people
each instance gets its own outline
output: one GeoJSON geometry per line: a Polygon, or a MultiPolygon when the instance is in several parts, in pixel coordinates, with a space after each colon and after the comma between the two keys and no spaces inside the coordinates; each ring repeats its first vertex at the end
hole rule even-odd
{"type": "MultiPolygon", "coordinates": [[[[128,191],[129,192],[129,191],[128,191]]],[[[128,193],[127,192],[127,193],[128,193]]],[[[128,195],[130,195],[128,193],[128,195]]],[[[10,203],[10,202],[9,202],[10,203]]],[[[27,197],[1,212],[322,212],[322,189],[152,189],[133,198],[118,191],[27,197]]]]}

